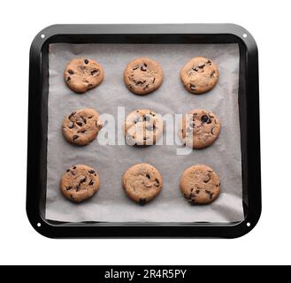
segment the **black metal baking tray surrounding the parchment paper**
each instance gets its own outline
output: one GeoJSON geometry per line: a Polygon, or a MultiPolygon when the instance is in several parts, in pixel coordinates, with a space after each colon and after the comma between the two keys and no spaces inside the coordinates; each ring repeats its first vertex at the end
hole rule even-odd
{"type": "Polygon", "coordinates": [[[224,237],[248,233],[261,214],[259,88],[257,44],[234,24],[54,25],[34,38],[29,61],[27,217],[51,238],[224,237]],[[239,223],[64,223],[44,218],[47,173],[49,45],[70,43],[237,43],[240,50],[239,116],[242,199],[239,223]]]}

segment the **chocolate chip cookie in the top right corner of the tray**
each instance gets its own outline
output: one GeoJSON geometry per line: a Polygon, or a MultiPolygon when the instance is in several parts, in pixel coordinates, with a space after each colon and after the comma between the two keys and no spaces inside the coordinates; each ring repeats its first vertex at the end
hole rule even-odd
{"type": "Polygon", "coordinates": [[[192,94],[211,90],[218,82],[218,67],[208,58],[194,57],[180,71],[180,79],[192,94]]]}

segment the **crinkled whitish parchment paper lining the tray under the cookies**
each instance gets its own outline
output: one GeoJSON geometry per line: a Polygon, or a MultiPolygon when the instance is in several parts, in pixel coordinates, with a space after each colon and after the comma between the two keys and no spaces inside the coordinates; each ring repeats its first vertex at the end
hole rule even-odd
{"type": "Polygon", "coordinates": [[[109,222],[234,222],[243,219],[241,143],[238,116],[239,49],[237,44],[50,44],[50,92],[47,159],[46,218],[50,220],[109,222]],[[135,96],[125,86],[123,72],[135,57],[156,59],[164,69],[162,86],[148,96],[135,96]],[[207,94],[189,94],[180,82],[180,69],[192,57],[210,57],[219,68],[218,85],[207,94]],[[63,72],[73,57],[96,59],[103,65],[103,83],[84,95],[65,86],[63,72]],[[134,148],[128,145],[86,147],[66,142],[61,131],[66,114],[92,107],[117,118],[117,107],[126,114],[149,109],[161,114],[206,109],[222,123],[218,140],[211,147],[177,156],[178,145],[134,148]],[[123,172],[133,164],[153,164],[164,177],[160,195],[140,206],[127,198],[121,187],[123,172]],[[66,200],[59,180],[72,164],[96,168],[100,188],[84,203],[66,200]],[[221,194],[210,205],[195,206],[180,193],[180,175],[192,164],[208,164],[219,175],[221,194]]]}

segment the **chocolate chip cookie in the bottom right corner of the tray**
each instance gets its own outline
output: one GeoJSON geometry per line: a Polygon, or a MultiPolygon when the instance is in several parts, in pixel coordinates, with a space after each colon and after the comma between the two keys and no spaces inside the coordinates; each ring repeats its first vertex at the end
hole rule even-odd
{"type": "Polygon", "coordinates": [[[180,189],[189,202],[207,204],[218,197],[220,180],[211,167],[195,165],[182,173],[180,189]]]}

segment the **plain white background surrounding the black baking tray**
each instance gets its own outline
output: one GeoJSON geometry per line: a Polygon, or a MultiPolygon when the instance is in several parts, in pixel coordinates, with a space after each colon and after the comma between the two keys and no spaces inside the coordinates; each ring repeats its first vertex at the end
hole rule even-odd
{"type": "Polygon", "coordinates": [[[289,1],[1,1],[0,264],[291,264],[289,1]],[[28,54],[56,23],[236,23],[257,40],[263,213],[235,240],[51,240],[28,223],[28,54]]]}

